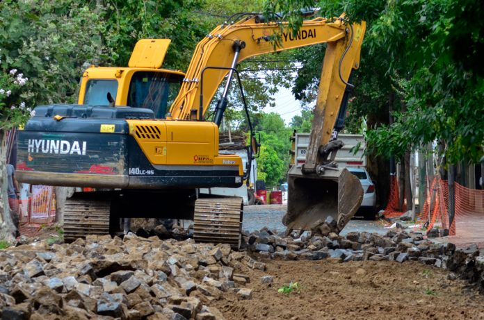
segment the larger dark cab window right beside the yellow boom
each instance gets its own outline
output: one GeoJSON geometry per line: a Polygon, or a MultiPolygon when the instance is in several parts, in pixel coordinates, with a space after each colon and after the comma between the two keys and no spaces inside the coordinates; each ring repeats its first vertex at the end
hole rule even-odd
{"type": "Polygon", "coordinates": [[[177,97],[182,80],[177,74],[137,71],[129,84],[127,105],[151,109],[157,119],[163,119],[177,97]]]}

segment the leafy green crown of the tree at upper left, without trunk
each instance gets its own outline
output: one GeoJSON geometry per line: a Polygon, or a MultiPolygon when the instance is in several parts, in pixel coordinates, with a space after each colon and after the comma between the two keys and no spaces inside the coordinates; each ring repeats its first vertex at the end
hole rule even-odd
{"type": "Polygon", "coordinates": [[[1,70],[29,78],[6,106],[74,101],[81,70],[99,54],[100,32],[97,12],[79,1],[1,1],[1,70]]]}

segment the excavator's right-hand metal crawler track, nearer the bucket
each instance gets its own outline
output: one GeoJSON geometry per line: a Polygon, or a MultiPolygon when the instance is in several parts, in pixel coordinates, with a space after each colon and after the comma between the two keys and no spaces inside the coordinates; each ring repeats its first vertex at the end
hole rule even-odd
{"type": "Polygon", "coordinates": [[[196,242],[241,246],[243,199],[207,198],[195,201],[193,238],[196,242]]]}

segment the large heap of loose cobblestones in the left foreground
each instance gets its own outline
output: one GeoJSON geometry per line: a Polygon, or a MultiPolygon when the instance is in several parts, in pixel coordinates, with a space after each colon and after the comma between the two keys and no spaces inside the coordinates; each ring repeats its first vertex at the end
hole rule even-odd
{"type": "Polygon", "coordinates": [[[240,273],[248,267],[265,264],[193,239],[130,233],[24,244],[0,251],[1,319],[223,319],[208,305],[225,292],[250,299],[240,273]]]}

